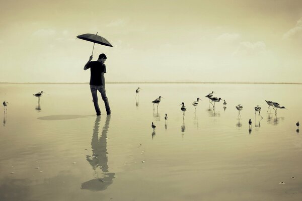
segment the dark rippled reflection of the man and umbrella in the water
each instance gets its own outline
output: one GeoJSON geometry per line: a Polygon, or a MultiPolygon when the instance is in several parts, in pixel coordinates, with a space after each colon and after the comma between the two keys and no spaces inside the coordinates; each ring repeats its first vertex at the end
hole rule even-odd
{"type": "Polygon", "coordinates": [[[110,115],[107,115],[102,135],[99,139],[99,126],[101,116],[97,116],[91,141],[92,156],[86,156],[87,161],[96,172],[96,178],[82,183],[82,189],[92,191],[105,190],[112,182],[115,173],[108,172],[107,157],[107,132],[109,128],[110,115]],[[102,170],[102,176],[99,176],[97,170],[102,170]]]}

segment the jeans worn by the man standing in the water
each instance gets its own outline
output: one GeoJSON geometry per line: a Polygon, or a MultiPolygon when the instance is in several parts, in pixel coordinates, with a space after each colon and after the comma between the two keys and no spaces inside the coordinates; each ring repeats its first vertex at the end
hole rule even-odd
{"type": "Polygon", "coordinates": [[[107,114],[110,114],[110,107],[109,107],[109,102],[108,102],[108,98],[106,95],[106,90],[104,88],[103,85],[90,85],[90,90],[91,90],[91,94],[92,94],[92,98],[93,98],[93,103],[96,109],[96,113],[97,114],[101,114],[101,110],[99,107],[99,103],[98,103],[98,90],[101,93],[102,99],[104,100],[105,103],[105,108],[106,108],[106,112],[107,114]]]}

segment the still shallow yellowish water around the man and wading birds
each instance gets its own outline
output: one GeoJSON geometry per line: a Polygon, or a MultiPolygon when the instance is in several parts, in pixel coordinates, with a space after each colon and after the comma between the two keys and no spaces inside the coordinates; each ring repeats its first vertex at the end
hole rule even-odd
{"type": "Polygon", "coordinates": [[[295,126],[302,120],[302,85],[106,88],[112,114],[105,115],[100,98],[102,115],[96,117],[87,84],[0,84],[0,100],[9,102],[0,125],[0,200],[302,197],[302,137],[295,126]],[[38,104],[32,94],[41,90],[46,94],[38,104]],[[228,103],[225,109],[223,102],[215,110],[209,105],[204,96],[212,90],[228,103]],[[151,102],[159,95],[164,98],[157,112],[151,102]],[[194,113],[197,97],[202,101],[194,113]],[[265,99],[288,110],[267,112],[265,99]],[[262,120],[254,114],[257,105],[262,120]]]}

